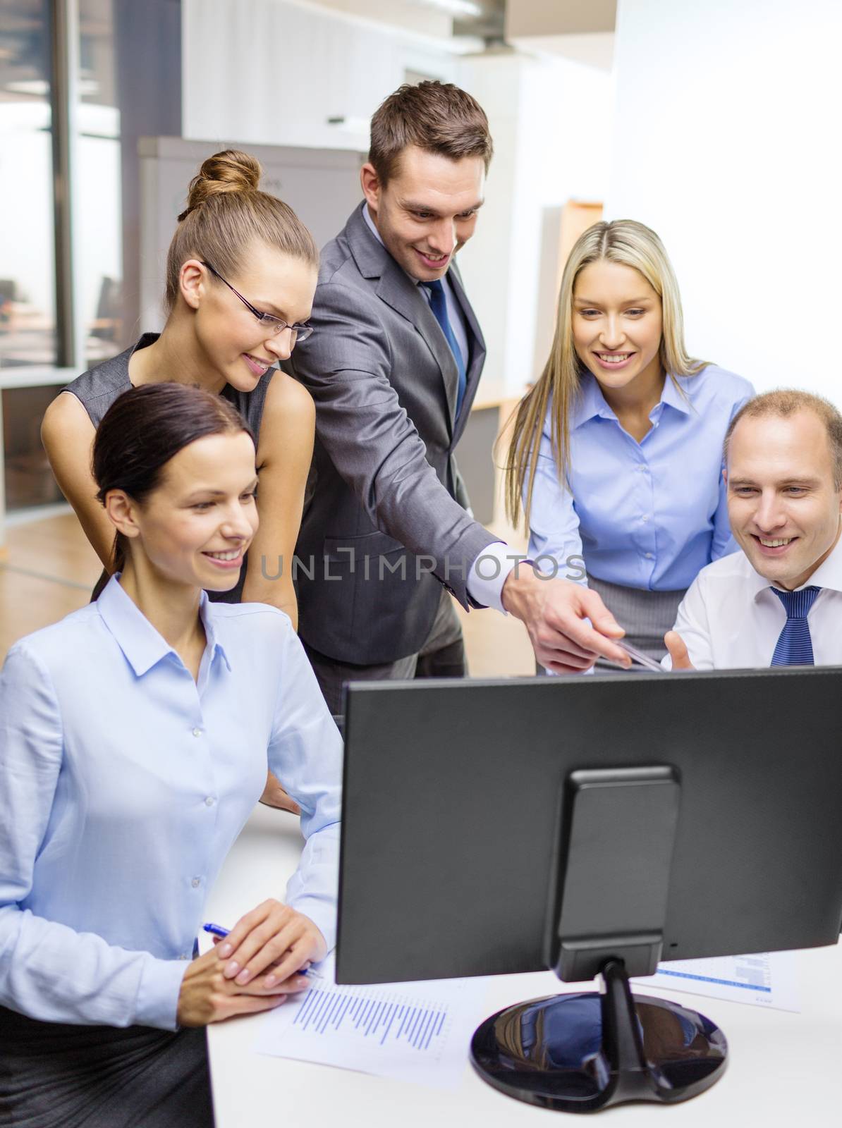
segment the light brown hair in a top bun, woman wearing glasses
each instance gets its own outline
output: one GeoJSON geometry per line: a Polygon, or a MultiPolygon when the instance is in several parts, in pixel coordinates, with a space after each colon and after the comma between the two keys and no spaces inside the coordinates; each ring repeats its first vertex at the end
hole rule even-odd
{"type": "Polygon", "coordinates": [[[318,265],[313,236],[289,204],[258,191],[261,171],[247,152],[226,149],[209,157],[193,177],[167,253],[168,310],[188,258],[207,258],[222,277],[236,277],[248,245],[256,240],[318,265]]]}

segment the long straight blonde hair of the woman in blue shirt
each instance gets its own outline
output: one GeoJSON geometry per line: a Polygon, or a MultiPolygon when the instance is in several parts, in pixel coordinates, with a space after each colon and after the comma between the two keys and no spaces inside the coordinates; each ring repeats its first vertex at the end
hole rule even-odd
{"type": "Polygon", "coordinates": [[[515,526],[523,505],[524,522],[529,528],[538,448],[551,403],[551,441],[560,481],[570,468],[570,413],[586,371],[573,347],[573,289],[579,272],[589,263],[600,259],[633,267],[660,298],[660,363],[670,378],[695,376],[708,363],[688,356],[684,347],[684,318],[678,283],[664,244],[655,231],[633,219],[616,219],[589,227],[575,243],[561,276],[559,312],[550,358],[535,386],[518,404],[514,423],[510,423],[511,438],[506,460],[506,512],[515,526]]]}

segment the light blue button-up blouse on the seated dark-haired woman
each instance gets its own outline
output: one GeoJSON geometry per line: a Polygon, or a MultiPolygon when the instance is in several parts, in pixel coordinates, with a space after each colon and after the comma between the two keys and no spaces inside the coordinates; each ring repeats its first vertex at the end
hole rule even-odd
{"type": "MultiPolygon", "coordinates": [[[[198,682],[112,578],[0,673],[0,1004],[175,1029],[208,890],[266,766],[301,807],[286,901],[335,936],[342,741],[289,618],[211,603],[198,682]]],[[[280,890],[278,891],[281,892],[280,890]]]]}

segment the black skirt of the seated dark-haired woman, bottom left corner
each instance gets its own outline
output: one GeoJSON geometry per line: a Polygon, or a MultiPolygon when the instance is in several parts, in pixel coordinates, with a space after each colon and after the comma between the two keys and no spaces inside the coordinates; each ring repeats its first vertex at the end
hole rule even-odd
{"type": "Polygon", "coordinates": [[[6,1128],[213,1128],[203,1029],[78,1026],[0,1007],[6,1128]]]}

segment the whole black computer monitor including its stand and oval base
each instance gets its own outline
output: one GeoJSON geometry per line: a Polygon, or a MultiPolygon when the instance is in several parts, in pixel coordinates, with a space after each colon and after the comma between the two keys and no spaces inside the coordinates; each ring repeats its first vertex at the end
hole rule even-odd
{"type": "Polygon", "coordinates": [[[565,1111],[722,1073],[659,960],[836,943],[842,670],[351,684],[336,977],[599,975],[493,1015],[472,1061],[565,1111]]]}

